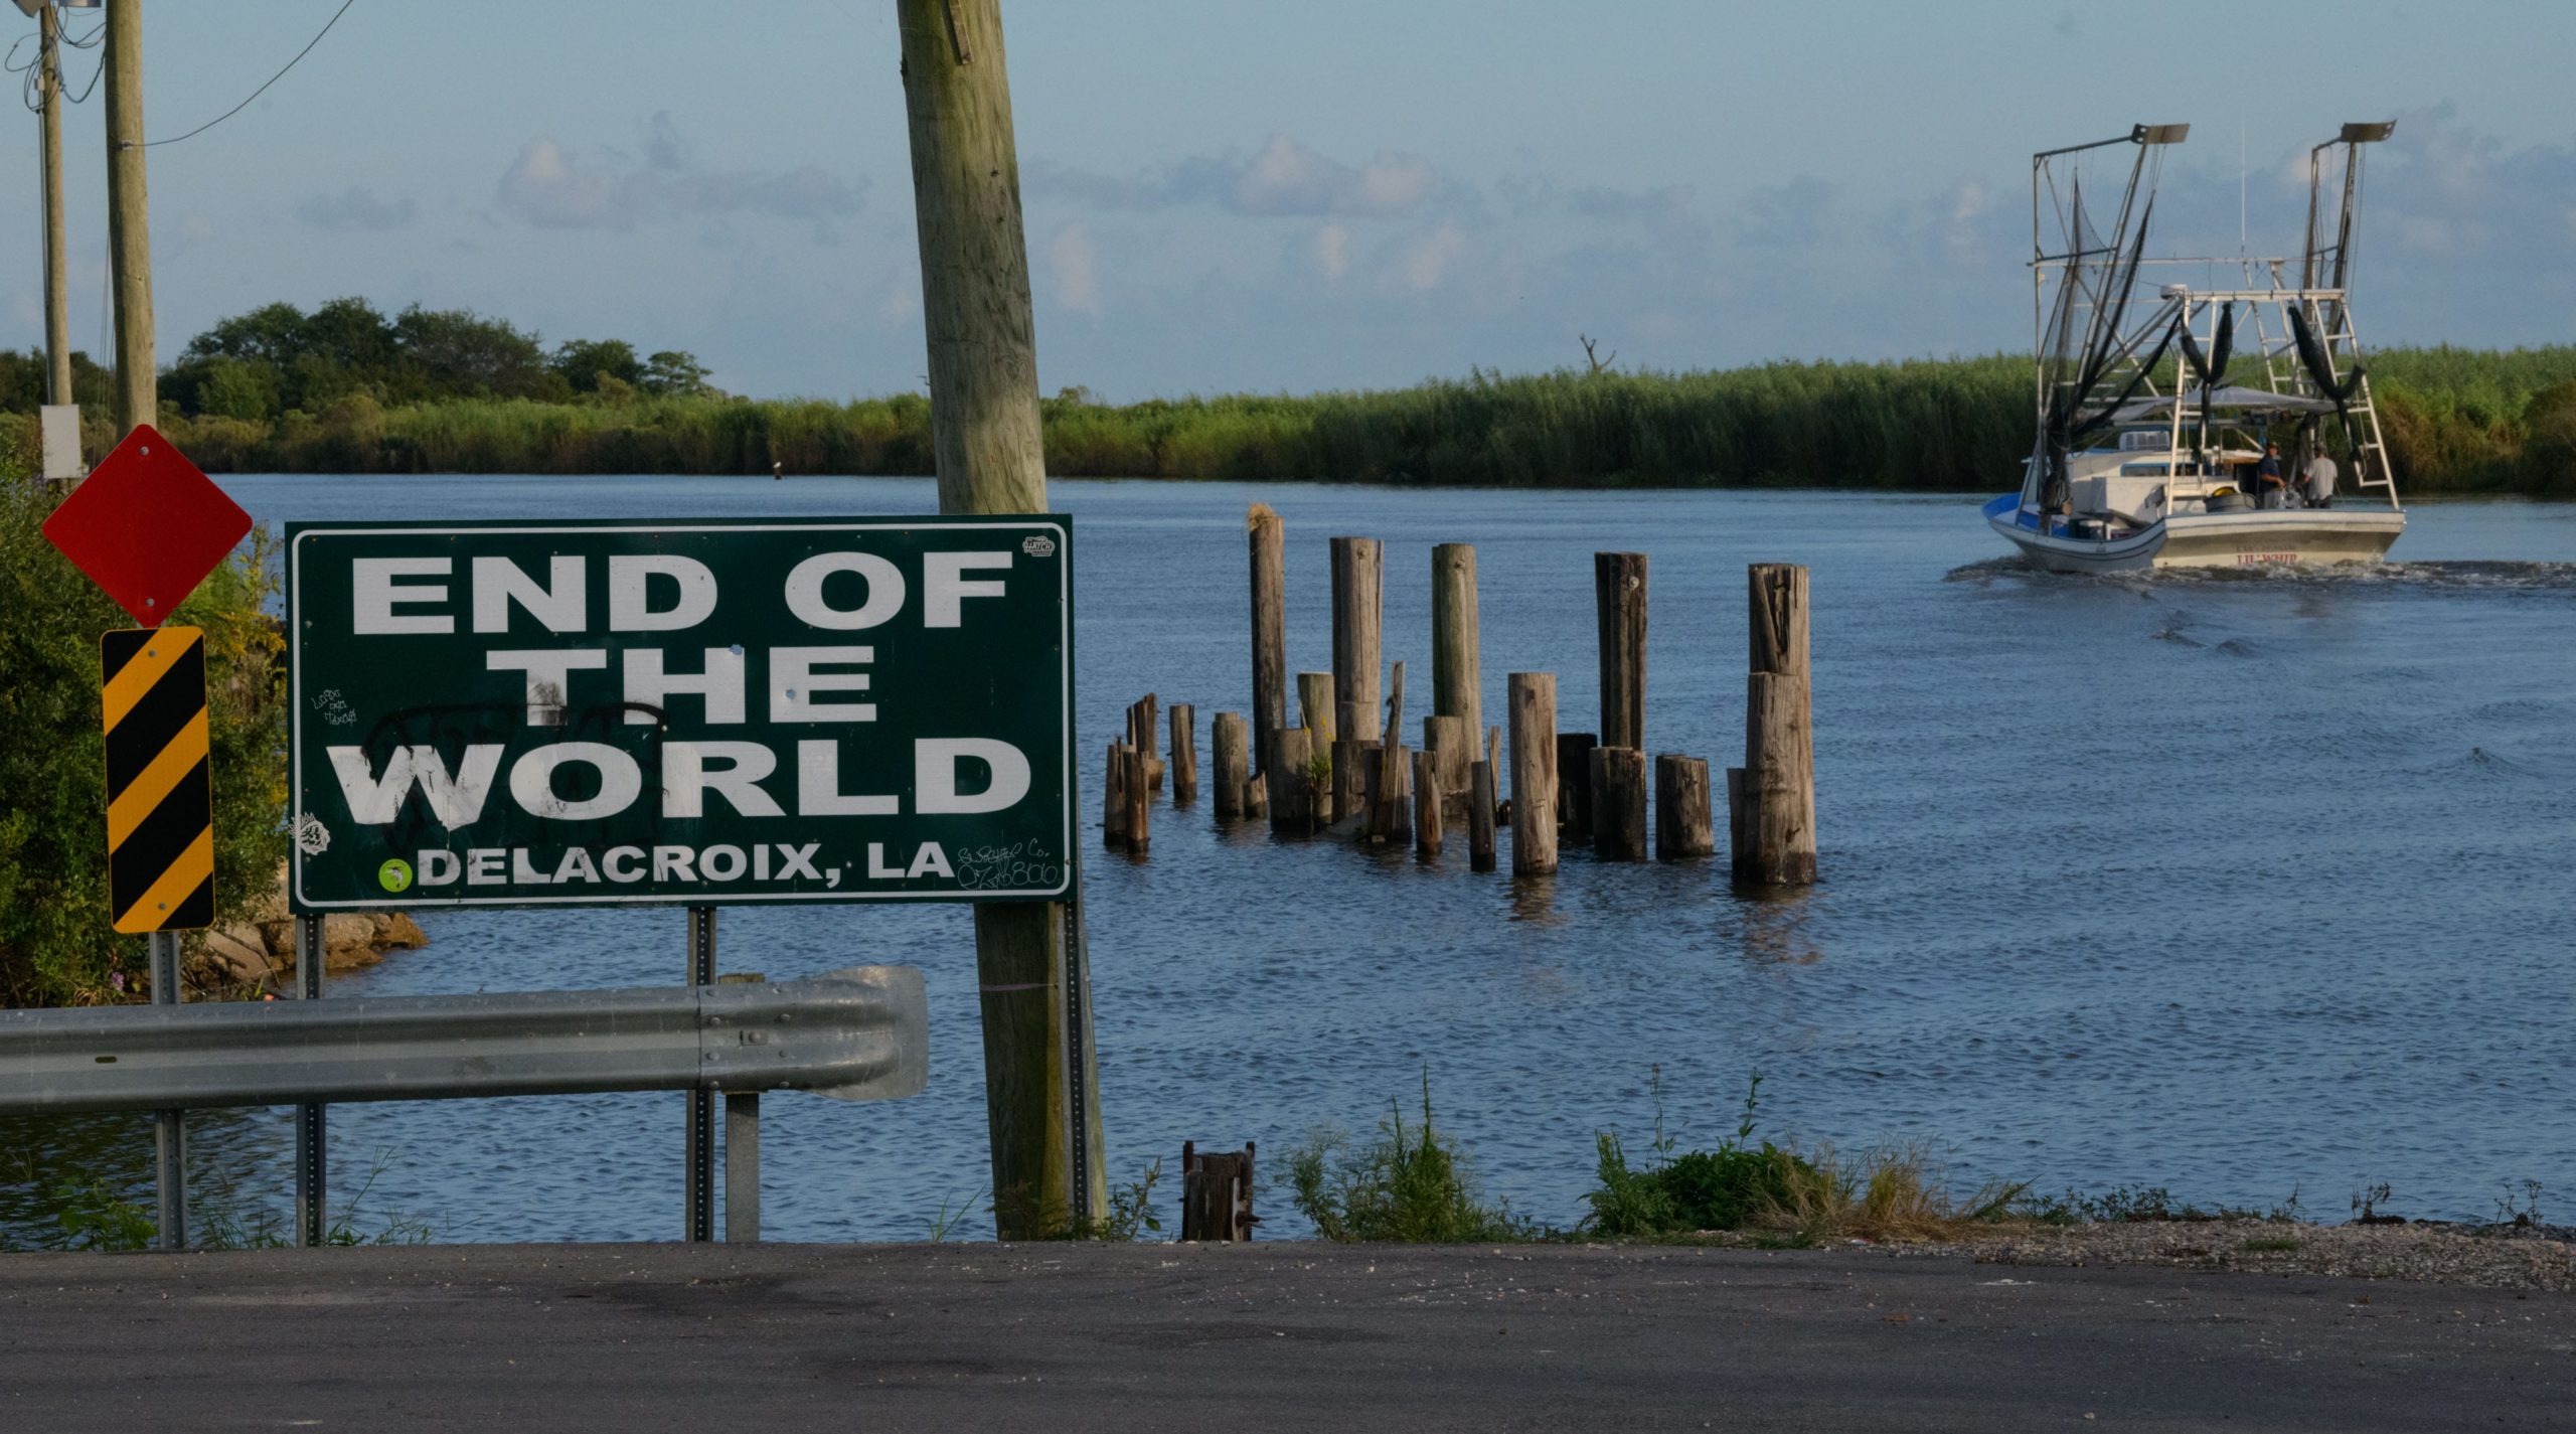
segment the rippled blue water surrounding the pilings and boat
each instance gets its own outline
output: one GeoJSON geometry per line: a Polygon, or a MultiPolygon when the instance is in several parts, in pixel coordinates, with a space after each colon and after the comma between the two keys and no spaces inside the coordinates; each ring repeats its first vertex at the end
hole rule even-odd
{"type": "MultiPolygon", "coordinates": [[[[922,512],[927,481],[283,479],[260,520],[922,512]]],[[[1574,1220],[1592,1133],[1935,1141],[1960,1182],[2169,1184],[2339,1215],[2576,1195],[2576,505],[2414,510],[2367,577],[2056,579],[1996,561],[1973,499],[1530,494],[1064,481],[1082,543],[1079,749],[1126,703],[1249,703],[1244,505],[1288,520],[1288,662],[1329,667],[1324,541],[1386,538],[1386,654],[1427,705],[1430,543],[1473,541],[1484,705],[1558,675],[1597,721],[1592,564],[1651,554],[1649,747],[1741,744],[1744,564],[1814,566],[1824,886],[1716,865],[1471,875],[1154,814],[1087,857],[1113,1179],[1182,1141],[1285,1151],[1419,1102],[1522,1213],[1574,1220]]],[[[1206,747],[1203,747],[1206,749],[1206,747]]],[[[1097,808],[1090,811],[1097,842],[1097,808]]],[[[1504,862],[1510,865],[1510,860],[1504,862]]],[[[425,914],[433,945],[332,994],[672,983],[680,911],[425,914]]],[[[927,971],[920,1099],[765,1102],[775,1238],[920,1238],[987,1187],[963,909],[734,909],[724,965],[927,971]]],[[[201,1184],[278,1200],[286,1120],[206,1115],[201,1184]]],[[[147,1171],[139,1125],[15,1128],[39,1179],[147,1171]]],[[[670,1238],[680,1097],[332,1112],[335,1195],[438,1238],[670,1238]]],[[[1275,1161],[1270,1171],[1278,1174],[1275,1161]]],[[[0,1171],[0,1220],[28,1179],[0,1171]]],[[[1273,1233],[1296,1233],[1270,1189],[1273,1233]]],[[[5,1225],[0,1225],[5,1228],[5,1225]]],[[[974,1225],[989,1233],[989,1223],[974,1225]]]]}

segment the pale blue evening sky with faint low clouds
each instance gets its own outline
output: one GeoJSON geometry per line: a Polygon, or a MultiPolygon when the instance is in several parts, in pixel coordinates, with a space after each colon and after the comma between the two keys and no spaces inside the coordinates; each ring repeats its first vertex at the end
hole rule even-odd
{"type": "MultiPolygon", "coordinates": [[[[144,0],[147,136],[240,103],[337,8],[144,0]]],[[[1664,371],[2027,353],[2030,154],[2136,121],[2192,124],[2154,250],[2233,255],[2241,214],[2254,252],[2293,252],[2308,147],[2393,116],[2362,340],[2576,342],[2568,0],[1002,15],[1048,391],[1378,389],[1579,366],[1582,337],[1664,371]]],[[[744,394],[922,389],[896,59],[886,0],[355,0],[260,100],[152,149],[162,360],[355,293],[683,348],[744,394]]],[[[100,111],[64,124],[93,353],[100,111]]],[[[26,178],[0,191],[0,345],[33,348],[33,116],[0,124],[0,175],[26,178]]]]}

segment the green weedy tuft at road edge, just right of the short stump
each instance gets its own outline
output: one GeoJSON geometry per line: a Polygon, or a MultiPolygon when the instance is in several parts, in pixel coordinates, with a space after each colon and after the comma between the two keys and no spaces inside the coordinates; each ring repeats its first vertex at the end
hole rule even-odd
{"type": "Polygon", "coordinates": [[[1388,1117],[1365,1146],[1345,1133],[1316,1133],[1288,1151],[1288,1192],[1327,1241],[1502,1243],[1548,1236],[1515,1218],[1510,1202],[1476,1200],[1458,1146],[1432,1128],[1427,1071],[1419,1125],[1406,1128],[1404,1107],[1388,1102],[1388,1117]]]}

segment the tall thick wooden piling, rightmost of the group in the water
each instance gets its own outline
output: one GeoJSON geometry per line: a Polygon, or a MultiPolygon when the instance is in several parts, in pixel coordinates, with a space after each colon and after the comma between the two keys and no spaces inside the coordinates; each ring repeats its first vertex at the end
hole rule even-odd
{"type": "MultiPolygon", "coordinates": [[[[1744,780],[1728,826],[1734,875],[1757,886],[1816,880],[1816,734],[1808,687],[1806,569],[1747,569],[1744,780]]],[[[1734,785],[1734,780],[1728,780],[1734,785]]]]}

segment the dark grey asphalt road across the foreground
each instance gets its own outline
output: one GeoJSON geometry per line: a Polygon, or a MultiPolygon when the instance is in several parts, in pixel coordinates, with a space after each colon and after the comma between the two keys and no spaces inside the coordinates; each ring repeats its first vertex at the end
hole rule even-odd
{"type": "Polygon", "coordinates": [[[1870,1251],[0,1256],[0,1429],[2568,1429],[2576,1300],[1870,1251]]]}

